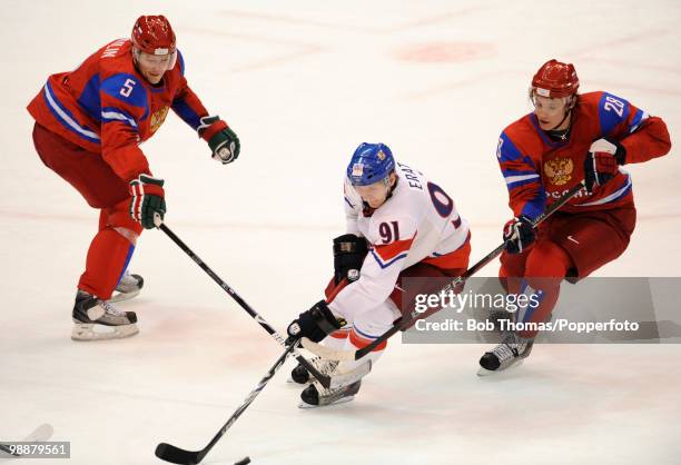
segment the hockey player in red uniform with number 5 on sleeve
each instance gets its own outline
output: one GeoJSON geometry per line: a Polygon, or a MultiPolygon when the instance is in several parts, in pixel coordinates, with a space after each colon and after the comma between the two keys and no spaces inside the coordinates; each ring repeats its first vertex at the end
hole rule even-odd
{"type": "Polygon", "coordinates": [[[214,159],[237,159],[239,139],[189,88],[175,32],[162,16],[140,17],[130,39],[103,46],[73,71],[50,76],[28,106],[43,164],[100,210],[78,283],[73,339],[138,332],[135,313],[110,301],[115,289],[115,299],[122,299],[141,288],[141,277],[127,266],[142,229],[166,212],[164,180],[152,175],[139,146],[170,109],[208,142],[214,159]]]}

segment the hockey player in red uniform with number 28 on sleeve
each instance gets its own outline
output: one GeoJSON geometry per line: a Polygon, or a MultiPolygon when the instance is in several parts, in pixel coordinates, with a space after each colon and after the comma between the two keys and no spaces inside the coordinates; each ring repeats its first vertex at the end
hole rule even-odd
{"type": "MultiPolygon", "coordinates": [[[[530,98],[534,111],[510,125],[496,157],[514,218],[504,226],[500,278],[509,293],[534,297],[516,321],[542,323],[563,278],[581,279],[618,258],[634,230],[631,176],[625,165],[669,152],[662,119],[629,101],[596,91],[578,93],[574,67],[544,63],[530,98]],[[531,221],[584,180],[583,188],[537,229],[531,221]]],[[[536,332],[507,333],[480,359],[481,374],[505,369],[530,355],[536,332]]]]}

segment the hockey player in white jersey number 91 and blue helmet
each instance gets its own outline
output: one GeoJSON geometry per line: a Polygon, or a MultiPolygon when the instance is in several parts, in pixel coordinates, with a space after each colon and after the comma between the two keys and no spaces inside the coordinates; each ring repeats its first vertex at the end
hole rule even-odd
{"type": "MultiPolygon", "coordinates": [[[[428,284],[405,289],[404,279],[455,277],[466,270],[471,234],[452,198],[422,172],[396,164],[383,144],[362,144],[355,150],[344,190],[347,231],[334,239],[335,274],[326,299],[302,313],[288,326],[288,335],[356,350],[388,330],[403,311],[409,313],[416,293],[440,290],[423,287],[428,284]]],[[[442,287],[442,280],[435,281],[430,286],[442,287]]],[[[362,364],[371,364],[371,369],[385,345],[352,363],[313,362],[326,374],[365,375],[368,369],[359,369],[366,368],[362,364]]],[[[303,407],[352,400],[361,376],[326,389],[302,366],[292,373],[297,383],[312,382],[300,395],[303,407]]]]}

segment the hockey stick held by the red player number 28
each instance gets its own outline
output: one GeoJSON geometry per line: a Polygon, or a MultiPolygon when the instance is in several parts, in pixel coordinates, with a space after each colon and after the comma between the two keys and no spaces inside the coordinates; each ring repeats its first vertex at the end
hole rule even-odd
{"type": "MultiPolygon", "coordinates": [[[[549,207],[546,207],[544,211],[540,216],[537,216],[534,219],[534,221],[532,221],[532,227],[536,228],[542,221],[544,221],[546,218],[553,215],[559,208],[568,204],[568,201],[571,198],[573,198],[580,190],[582,190],[583,187],[584,187],[584,181],[582,180],[579,185],[570,189],[561,198],[559,198],[556,201],[554,201],[549,207]]],[[[487,254],[483,259],[481,259],[475,265],[473,265],[471,268],[468,268],[466,273],[464,273],[462,276],[457,276],[452,283],[450,283],[447,286],[441,289],[440,293],[446,294],[451,290],[456,289],[458,286],[463,285],[466,281],[466,279],[475,275],[477,271],[481,270],[481,268],[485,267],[490,261],[494,260],[499,255],[501,255],[501,253],[504,251],[505,247],[506,247],[506,241],[501,244],[499,247],[496,247],[494,250],[487,254]]],[[[320,344],[313,343],[307,337],[304,337],[302,339],[302,344],[303,344],[303,347],[305,347],[307,350],[312,352],[313,354],[322,358],[326,358],[330,360],[340,360],[340,362],[358,360],[359,358],[364,357],[365,355],[371,353],[373,349],[375,349],[384,340],[387,340],[389,337],[401,332],[403,328],[408,327],[415,319],[418,318],[418,316],[420,316],[420,313],[416,311],[416,309],[412,310],[412,313],[409,314],[409,318],[407,318],[406,320],[404,320],[403,317],[398,318],[394,323],[391,329],[388,329],[387,332],[378,336],[378,338],[375,339],[368,346],[363,347],[357,350],[334,350],[320,344]]]]}

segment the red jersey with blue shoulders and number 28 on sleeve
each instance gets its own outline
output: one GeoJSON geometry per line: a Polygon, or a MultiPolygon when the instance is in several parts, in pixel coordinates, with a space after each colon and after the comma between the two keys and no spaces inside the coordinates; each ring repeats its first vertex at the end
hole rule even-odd
{"type": "MultiPolygon", "coordinates": [[[[584,159],[598,139],[619,141],[626,150],[626,164],[660,157],[671,148],[664,121],[606,92],[581,95],[571,118],[564,141],[551,139],[533,112],[502,132],[496,157],[514,215],[536,218],[547,204],[583,180],[584,159]]],[[[632,202],[631,177],[620,168],[611,181],[595,187],[591,195],[582,189],[563,210],[603,210],[632,202]]]]}

